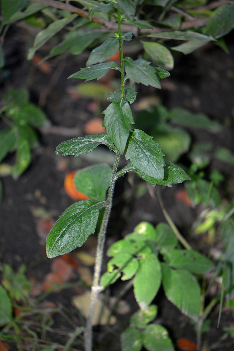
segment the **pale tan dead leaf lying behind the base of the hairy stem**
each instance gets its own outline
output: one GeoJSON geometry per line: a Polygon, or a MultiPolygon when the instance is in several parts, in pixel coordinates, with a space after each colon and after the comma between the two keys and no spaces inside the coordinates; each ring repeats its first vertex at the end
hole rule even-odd
{"type": "MultiPolygon", "coordinates": [[[[89,313],[90,292],[87,291],[83,295],[74,296],[72,298],[72,302],[75,305],[75,307],[83,314],[83,316],[87,318],[89,313]]],[[[101,297],[98,296],[98,300],[94,311],[94,317],[92,320],[92,325],[98,325],[98,324],[106,325],[108,322],[109,313],[110,313],[109,308],[106,306],[103,307],[103,301],[101,297]],[[99,321],[99,314],[101,313],[102,310],[103,310],[103,313],[99,321]]],[[[115,323],[116,323],[116,318],[114,316],[111,316],[110,325],[113,325],[115,323]]]]}

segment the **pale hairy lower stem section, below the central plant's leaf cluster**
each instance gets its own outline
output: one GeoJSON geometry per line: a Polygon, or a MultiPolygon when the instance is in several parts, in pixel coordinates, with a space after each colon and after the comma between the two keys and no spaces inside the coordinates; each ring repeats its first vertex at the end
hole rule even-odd
{"type": "Polygon", "coordinates": [[[87,318],[86,328],[84,332],[84,347],[85,351],[92,350],[92,319],[94,316],[95,306],[97,302],[97,297],[99,290],[101,289],[99,286],[99,280],[101,275],[101,267],[102,267],[102,258],[103,258],[103,250],[104,250],[104,243],[105,243],[105,235],[106,235],[106,228],[108,225],[108,220],[110,217],[111,207],[112,207],[112,197],[113,191],[115,188],[116,182],[116,172],[119,163],[120,153],[117,152],[115,163],[113,165],[112,176],[110,187],[108,191],[108,196],[106,199],[106,206],[105,211],[103,214],[101,228],[98,234],[98,241],[97,241],[97,253],[96,253],[96,261],[95,261],[95,268],[94,268],[94,278],[91,288],[91,297],[90,297],[90,306],[89,306],[89,314],[87,318]]]}

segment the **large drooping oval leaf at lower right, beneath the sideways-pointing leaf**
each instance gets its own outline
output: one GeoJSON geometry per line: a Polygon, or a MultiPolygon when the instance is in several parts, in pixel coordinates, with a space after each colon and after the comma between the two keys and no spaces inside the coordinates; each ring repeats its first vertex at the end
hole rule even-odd
{"type": "Polygon", "coordinates": [[[161,264],[163,288],[166,297],[186,316],[198,320],[201,307],[200,287],[197,279],[183,269],[172,269],[161,264]]]}

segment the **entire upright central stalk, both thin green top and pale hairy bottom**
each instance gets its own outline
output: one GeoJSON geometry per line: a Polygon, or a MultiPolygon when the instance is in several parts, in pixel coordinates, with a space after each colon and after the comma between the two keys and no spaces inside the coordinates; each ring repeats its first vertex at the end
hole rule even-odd
{"type": "MultiPolygon", "coordinates": [[[[121,38],[121,13],[119,10],[118,10],[118,38],[119,38],[119,57],[121,61],[121,96],[122,98],[124,98],[124,61],[123,61],[123,48],[122,48],[122,38],[121,38]]],[[[110,187],[109,187],[108,196],[106,199],[106,206],[103,214],[102,224],[98,234],[97,253],[96,253],[95,268],[94,268],[94,278],[93,278],[92,288],[91,288],[89,314],[87,317],[86,328],[84,332],[85,351],[92,351],[92,319],[94,316],[98,293],[101,289],[101,287],[99,286],[99,280],[101,276],[106,228],[108,225],[108,220],[110,217],[110,212],[112,207],[112,197],[113,197],[113,191],[115,188],[116,172],[117,172],[120,156],[121,154],[117,152],[115,162],[113,164],[110,187]]]]}

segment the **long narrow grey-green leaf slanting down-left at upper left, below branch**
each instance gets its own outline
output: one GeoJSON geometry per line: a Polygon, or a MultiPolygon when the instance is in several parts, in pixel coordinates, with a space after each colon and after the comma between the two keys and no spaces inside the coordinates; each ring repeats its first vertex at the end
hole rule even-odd
{"type": "Polygon", "coordinates": [[[66,25],[68,25],[71,21],[73,21],[77,15],[69,15],[66,18],[63,18],[61,20],[57,20],[53,23],[51,23],[46,29],[43,31],[40,31],[34,40],[33,47],[28,50],[28,60],[32,60],[34,57],[35,52],[43,45],[45,44],[50,38],[52,38],[56,33],[61,31],[62,28],[64,28],[66,25]]]}

